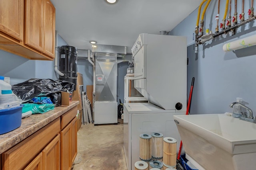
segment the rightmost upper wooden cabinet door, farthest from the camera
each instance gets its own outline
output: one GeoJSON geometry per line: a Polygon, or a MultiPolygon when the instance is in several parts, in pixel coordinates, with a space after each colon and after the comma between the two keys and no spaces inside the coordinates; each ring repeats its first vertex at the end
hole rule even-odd
{"type": "Polygon", "coordinates": [[[54,58],[55,8],[50,0],[44,0],[44,53],[54,58]]]}

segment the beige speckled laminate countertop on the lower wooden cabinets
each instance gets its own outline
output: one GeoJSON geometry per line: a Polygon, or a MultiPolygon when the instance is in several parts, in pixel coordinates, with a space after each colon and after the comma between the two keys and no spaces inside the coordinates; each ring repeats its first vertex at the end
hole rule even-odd
{"type": "Polygon", "coordinates": [[[60,115],[66,113],[78,104],[79,101],[72,101],[69,106],[55,107],[53,110],[46,113],[33,114],[30,117],[22,119],[20,127],[0,135],[0,154],[26,139],[42,127],[48,125],[48,123],[54,121],[56,118],[60,117],[60,115]]]}

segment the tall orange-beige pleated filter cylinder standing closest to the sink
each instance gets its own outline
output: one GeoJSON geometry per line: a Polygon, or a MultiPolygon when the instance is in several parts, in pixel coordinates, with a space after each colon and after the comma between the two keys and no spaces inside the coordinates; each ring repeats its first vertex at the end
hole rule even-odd
{"type": "Polygon", "coordinates": [[[164,138],[163,164],[176,166],[177,140],[172,137],[164,138]]]}

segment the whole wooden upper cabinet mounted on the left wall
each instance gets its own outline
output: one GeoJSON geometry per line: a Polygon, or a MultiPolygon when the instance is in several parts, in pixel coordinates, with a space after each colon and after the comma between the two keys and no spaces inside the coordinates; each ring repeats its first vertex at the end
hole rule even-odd
{"type": "Polygon", "coordinates": [[[53,60],[55,8],[50,0],[0,0],[0,49],[33,60],[53,60]]]}

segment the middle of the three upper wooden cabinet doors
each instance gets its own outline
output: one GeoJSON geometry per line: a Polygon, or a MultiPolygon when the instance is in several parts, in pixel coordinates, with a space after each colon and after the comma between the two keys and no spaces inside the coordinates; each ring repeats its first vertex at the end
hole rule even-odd
{"type": "Polygon", "coordinates": [[[25,0],[25,45],[43,52],[43,0],[25,0]]]}

